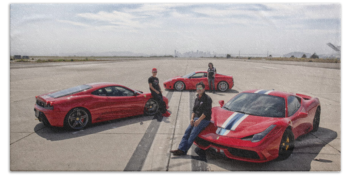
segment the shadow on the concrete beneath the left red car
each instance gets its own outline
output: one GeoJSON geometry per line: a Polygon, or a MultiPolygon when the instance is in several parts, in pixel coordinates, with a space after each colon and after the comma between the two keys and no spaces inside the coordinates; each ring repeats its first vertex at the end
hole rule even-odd
{"type": "MultiPolygon", "coordinates": [[[[90,134],[96,134],[109,129],[127,126],[131,124],[138,123],[140,125],[143,125],[144,121],[153,120],[153,118],[154,116],[139,115],[139,116],[125,117],[121,119],[113,119],[113,120],[94,123],[92,125],[85,127],[80,131],[73,131],[63,127],[53,127],[53,126],[48,127],[48,126],[44,126],[43,123],[38,123],[34,127],[34,131],[37,135],[47,140],[60,141],[60,140],[72,139],[80,136],[86,136],[90,134]]],[[[164,117],[162,121],[166,123],[167,117],[164,117]]],[[[145,129],[147,129],[147,127],[145,127],[145,129]]]]}

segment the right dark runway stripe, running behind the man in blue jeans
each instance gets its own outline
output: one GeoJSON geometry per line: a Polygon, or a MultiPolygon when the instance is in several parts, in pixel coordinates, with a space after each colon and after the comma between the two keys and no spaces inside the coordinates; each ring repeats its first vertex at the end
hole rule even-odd
{"type": "MultiPolygon", "coordinates": [[[[189,104],[190,104],[189,117],[191,117],[195,99],[196,99],[196,93],[190,92],[189,93],[189,104]]],[[[194,147],[191,148],[190,154],[192,158],[192,171],[208,171],[205,151],[201,150],[200,148],[194,145],[194,147]]]]}

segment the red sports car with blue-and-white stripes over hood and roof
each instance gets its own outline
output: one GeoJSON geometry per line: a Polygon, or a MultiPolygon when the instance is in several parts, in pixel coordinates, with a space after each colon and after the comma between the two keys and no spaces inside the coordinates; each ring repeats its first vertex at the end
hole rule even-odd
{"type": "Polygon", "coordinates": [[[266,162],[288,158],[295,139],[317,131],[318,98],[274,90],[248,90],[212,108],[211,123],[196,137],[199,148],[231,159],[266,162]]]}

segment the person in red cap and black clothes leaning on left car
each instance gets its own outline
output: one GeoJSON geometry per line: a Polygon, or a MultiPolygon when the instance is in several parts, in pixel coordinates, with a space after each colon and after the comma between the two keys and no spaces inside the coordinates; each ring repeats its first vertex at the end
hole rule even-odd
{"type": "MultiPolygon", "coordinates": [[[[153,76],[150,76],[148,78],[148,83],[149,83],[149,89],[151,92],[151,96],[158,102],[159,104],[159,109],[157,114],[154,116],[158,121],[162,120],[162,114],[165,114],[167,112],[166,107],[165,107],[165,102],[164,99],[162,98],[162,90],[159,86],[159,79],[156,77],[157,74],[157,69],[153,68],[151,70],[151,73],[153,76]]],[[[166,115],[166,114],[165,114],[166,115]]]]}

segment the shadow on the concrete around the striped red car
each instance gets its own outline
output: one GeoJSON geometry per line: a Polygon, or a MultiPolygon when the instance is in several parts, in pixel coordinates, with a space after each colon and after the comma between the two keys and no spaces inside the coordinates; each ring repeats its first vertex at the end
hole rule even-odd
{"type": "Polygon", "coordinates": [[[224,154],[216,153],[213,150],[203,151],[196,146],[195,153],[198,156],[192,156],[192,159],[205,161],[230,171],[310,171],[312,161],[332,162],[328,159],[315,159],[315,157],[326,144],[336,139],[336,137],[336,132],[321,127],[317,132],[299,136],[295,141],[294,151],[285,160],[275,159],[265,163],[239,161],[229,159],[224,154]]]}

